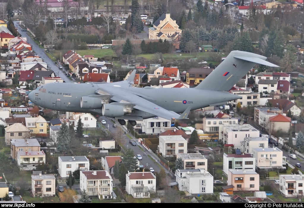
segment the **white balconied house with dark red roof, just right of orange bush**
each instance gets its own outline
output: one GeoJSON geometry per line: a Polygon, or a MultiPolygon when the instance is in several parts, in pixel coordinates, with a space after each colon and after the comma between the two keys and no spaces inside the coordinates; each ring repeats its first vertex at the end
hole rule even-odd
{"type": "Polygon", "coordinates": [[[111,199],[113,179],[108,171],[80,171],[80,189],[98,199],[111,199]]]}

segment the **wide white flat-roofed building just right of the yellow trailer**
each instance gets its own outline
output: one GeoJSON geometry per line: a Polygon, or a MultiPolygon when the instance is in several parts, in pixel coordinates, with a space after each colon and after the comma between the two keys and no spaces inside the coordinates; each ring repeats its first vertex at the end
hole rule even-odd
{"type": "Polygon", "coordinates": [[[259,137],[260,131],[249,124],[244,125],[225,125],[223,131],[219,133],[219,139],[223,139],[224,144],[233,144],[240,148],[240,142],[244,137],[259,137]]]}

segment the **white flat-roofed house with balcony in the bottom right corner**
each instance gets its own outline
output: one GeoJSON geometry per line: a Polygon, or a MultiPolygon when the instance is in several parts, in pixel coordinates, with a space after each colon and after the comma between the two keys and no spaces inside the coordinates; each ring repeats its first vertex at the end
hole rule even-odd
{"type": "Polygon", "coordinates": [[[303,175],[279,175],[280,192],[285,197],[303,196],[303,175]]]}

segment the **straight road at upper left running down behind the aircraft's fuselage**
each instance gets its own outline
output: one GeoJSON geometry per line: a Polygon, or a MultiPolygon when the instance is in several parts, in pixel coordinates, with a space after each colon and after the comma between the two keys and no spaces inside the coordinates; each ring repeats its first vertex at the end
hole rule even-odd
{"type": "MultiPolygon", "coordinates": [[[[39,54],[40,58],[43,59],[44,62],[47,63],[47,67],[51,70],[54,71],[55,75],[57,76],[59,74],[59,76],[65,81],[65,82],[74,82],[72,80],[70,80],[69,78],[67,78],[67,76],[64,74],[66,71],[64,70],[60,70],[58,67],[58,64],[54,63],[55,58],[50,59],[45,53],[45,50],[43,48],[40,48],[32,39],[31,37],[29,37],[27,35],[26,32],[22,32],[22,28],[19,26],[19,21],[15,21],[14,22],[15,26],[18,26],[18,32],[22,35],[22,37],[26,37],[29,44],[32,45],[33,50],[35,51],[35,54],[39,54]]],[[[49,53],[49,52],[47,52],[49,53]]]]}

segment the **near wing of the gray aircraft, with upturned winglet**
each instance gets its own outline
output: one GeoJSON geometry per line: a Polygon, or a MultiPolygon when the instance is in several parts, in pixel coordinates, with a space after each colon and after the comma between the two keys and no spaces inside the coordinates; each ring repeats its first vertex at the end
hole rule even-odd
{"type": "Polygon", "coordinates": [[[186,119],[191,109],[191,107],[188,107],[183,114],[179,115],[178,113],[166,110],[161,106],[157,106],[156,104],[132,93],[116,90],[115,92],[112,92],[112,94],[115,95],[111,100],[118,102],[117,104],[119,105],[132,106],[133,109],[141,110],[168,120],[186,119]]]}

